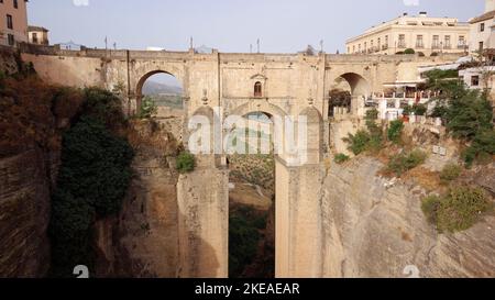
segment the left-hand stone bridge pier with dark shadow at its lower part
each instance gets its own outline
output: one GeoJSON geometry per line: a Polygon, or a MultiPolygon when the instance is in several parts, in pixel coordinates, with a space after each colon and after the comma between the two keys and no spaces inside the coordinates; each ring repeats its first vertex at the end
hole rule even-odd
{"type": "MultiPolygon", "coordinates": [[[[198,157],[198,159],[211,157],[198,157]]],[[[209,165],[205,163],[201,165],[209,165]]],[[[229,171],[199,167],[177,184],[178,278],[229,277],[229,171]]]]}

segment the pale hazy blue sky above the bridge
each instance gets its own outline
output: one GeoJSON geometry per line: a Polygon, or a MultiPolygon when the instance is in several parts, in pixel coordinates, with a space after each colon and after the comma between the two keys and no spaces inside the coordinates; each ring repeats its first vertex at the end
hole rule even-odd
{"type": "Polygon", "coordinates": [[[147,46],[185,51],[189,36],[221,52],[294,53],[308,44],[343,52],[348,37],[403,12],[428,11],[461,21],[481,14],[484,0],[31,0],[30,24],[51,31],[51,42],[89,47],[147,46]],[[89,5],[76,5],[89,1],[89,5]],[[419,5],[406,5],[415,3],[419,5]]]}

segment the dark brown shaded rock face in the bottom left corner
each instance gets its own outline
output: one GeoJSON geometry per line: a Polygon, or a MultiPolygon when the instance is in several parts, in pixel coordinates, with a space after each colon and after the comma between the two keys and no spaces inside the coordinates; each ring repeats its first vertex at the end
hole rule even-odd
{"type": "Polygon", "coordinates": [[[38,148],[0,159],[0,277],[41,277],[50,268],[50,195],[58,154],[38,148]]]}

